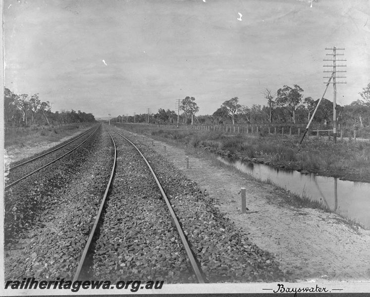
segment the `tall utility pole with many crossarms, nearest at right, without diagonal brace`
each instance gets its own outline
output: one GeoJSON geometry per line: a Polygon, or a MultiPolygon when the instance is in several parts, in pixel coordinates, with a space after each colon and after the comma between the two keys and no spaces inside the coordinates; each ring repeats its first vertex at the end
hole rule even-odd
{"type": "MultiPolygon", "coordinates": [[[[325,48],[327,49],[327,48],[325,48]]],[[[333,65],[324,65],[324,67],[332,67],[332,71],[328,70],[328,71],[324,71],[324,72],[332,72],[332,77],[333,77],[333,82],[330,83],[330,84],[333,84],[333,90],[334,90],[334,96],[333,96],[333,141],[334,143],[337,142],[337,86],[336,84],[346,84],[347,82],[337,82],[336,79],[337,78],[346,78],[346,76],[337,76],[336,73],[337,72],[346,72],[346,70],[337,70],[336,67],[346,67],[347,65],[337,65],[336,62],[337,61],[347,61],[346,59],[337,59],[336,56],[337,55],[344,55],[344,53],[337,53],[336,51],[337,50],[344,50],[344,49],[337,49],[335,47],[333,47],[332,49],[329,49],[329,50],[332,50],[333,53],[327,53],[326,55],[332,55],[333,58],[332,59],[324,59],[324,61],[332,61],[333,62],[333,65]]],[[[324,78],[326,78],[326,76],[324,76],[324,78]]]]}

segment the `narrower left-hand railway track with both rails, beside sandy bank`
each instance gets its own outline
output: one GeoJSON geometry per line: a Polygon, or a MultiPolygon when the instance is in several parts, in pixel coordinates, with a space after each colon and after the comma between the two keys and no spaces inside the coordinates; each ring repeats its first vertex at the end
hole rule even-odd
{"type": "Polygon", "coordinates": [[[7,183],[4,190],[6,191],[10,189],[30,175],[44,169],[45,167],[53,164],[57,160],[71,153],[75,149],[79,148],[86,141],[88,141],[90,137],[94,135],[98,128],[99,126],[94,126],[82,135],[74,138],[72,141],[67,142],[66,144],[63,144],[30,160],[10,167],[9,175],[7,176],[7,183]],[[77,146],[76,143],[78,144],[77,146]],[[72,146],[73,148],[71,148],[72,146]]]}

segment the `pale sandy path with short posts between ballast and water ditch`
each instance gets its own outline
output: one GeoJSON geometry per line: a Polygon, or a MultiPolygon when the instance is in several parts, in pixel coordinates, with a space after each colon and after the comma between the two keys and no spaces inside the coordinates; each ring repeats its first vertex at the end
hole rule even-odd
{"type": "MultiPolygon", "coordinates": [[[[152,140],[147,138],[148,144],[152,140]]],[[[209,155],[154,141],[154,149],[207,190],[238,228],[258,247],[276,255],[281,268],[301,282],[370,281],[369,231],[353,230],[341,217],[317,209],[282,206],[288,192],[217,165],[209,155]],[[166,146],[166,151],[164,151],[166,146]],[[190,169],[185,169],[185,156],[190,169]],[[249,211],[241,214],[240,188],[246,188],[249,211]],[[277,203],[269,203],[276,200],[277,203]]]]}

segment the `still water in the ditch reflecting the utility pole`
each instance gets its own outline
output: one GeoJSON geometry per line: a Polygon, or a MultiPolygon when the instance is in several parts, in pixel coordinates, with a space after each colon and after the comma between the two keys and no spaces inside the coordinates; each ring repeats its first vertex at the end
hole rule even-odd
{"type": "Polygon", "coordinates": [[[263,181],[269,179],[292,193],[322,201],[329,208],[370,228],[369,183],[342,181],[338,178],[304,174],[295,170],[222,157],[218,159],[263,181]]]}

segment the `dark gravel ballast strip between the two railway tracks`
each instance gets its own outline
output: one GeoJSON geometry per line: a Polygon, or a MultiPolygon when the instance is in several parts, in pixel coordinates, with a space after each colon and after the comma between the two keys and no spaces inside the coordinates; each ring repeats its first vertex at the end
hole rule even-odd
{"type": "Polygon", "coordinates": [[[9,198],[23,223],[14,217],[8,222],[14,244],[5,247],[5,280],[73,277],[106,190],[112,157],[110,137],[99,128],[83,146],[14,186],[9,198]]]}

